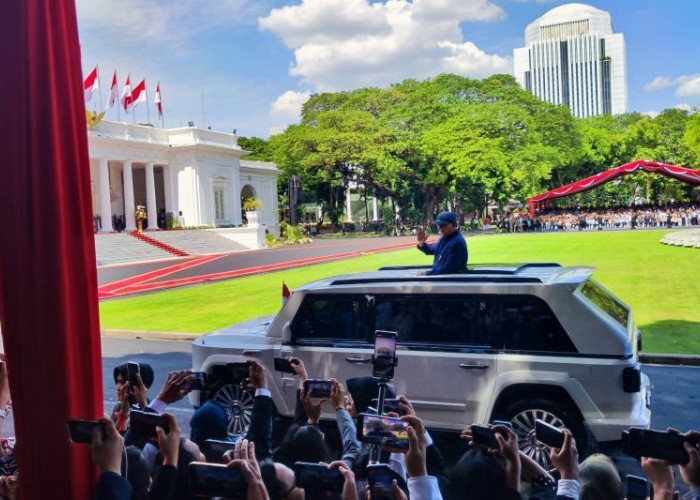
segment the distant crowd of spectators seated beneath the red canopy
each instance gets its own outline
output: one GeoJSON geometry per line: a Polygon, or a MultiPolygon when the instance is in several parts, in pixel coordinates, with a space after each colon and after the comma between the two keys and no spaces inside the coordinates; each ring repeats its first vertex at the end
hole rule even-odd
{"type": "Polygon", "coordinates": [[[524,211],[504,212],[484,222],[507,232],[638,228],[682,228],[700,224],[700,205],[637,205],[634,207],[550,209],[530,217],[524,211]]]}

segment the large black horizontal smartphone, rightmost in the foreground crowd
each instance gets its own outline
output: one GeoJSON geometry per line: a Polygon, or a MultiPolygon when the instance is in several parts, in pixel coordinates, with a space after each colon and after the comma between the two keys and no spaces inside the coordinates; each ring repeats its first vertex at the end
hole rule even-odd
{"type": "Polygon", "coordinates": [[[623,433],[622,449],[633,457],[649,457],[687,464],[690,458],[683,448],[685,438],[680,434],[631,427],[623,433]]]}

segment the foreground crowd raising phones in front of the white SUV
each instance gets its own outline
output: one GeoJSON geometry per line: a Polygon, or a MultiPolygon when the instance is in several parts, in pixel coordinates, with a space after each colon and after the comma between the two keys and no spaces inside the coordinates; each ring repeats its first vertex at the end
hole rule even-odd
{"type": "MultiPolygon", "coordinates": [[[[246,435],[233,438],[226,432],[226,411],[215,401],[208,401],[195,411],[189,439],[167,412],[168,405],[190,390],[195,377],[192,372],[170,373],[158,396],[151,401],[147,387],[153,380],[150,367],[142,364],[141,375],[131,384],[126,366],[117,367],[114,379],[119,403],[111,417],[100,421],[90,445],[99,472],[94,498],[625,498],[614,462],[600,454],[579,462],[576,440],[566,429],[562,431],[561,447],[550,452],[551,470],[520,452],[516,434],[504,424],[491,426],[495,441],[486,447],[477,444],[471,428],[467,427],[460,438],[469,443],[468,451],[448,467],[411,402],[404,396],[395,396],[391,386],[387,397],[398,400],[398,411],[403,415],[400,418],[407,424],[408,446],[382,449],[370,460],[371,447],[358,439],[356,426],[362,413],[372,411],[370,405],[378,393],[379,381],[358,377],[343,385],[332,380],[330,396],[314,398],[303,389],[304,381],[309,378],[304,363],[296,358],[290,358],[290,362],[299,382],[297,406],[293,424],[278,443],[273,442],[277,421],[273,419],[274,405],[266,372],[255,361],[248,362],[249,388],[255,393],[250,426],[246,435]],[[338,430],[335,438],[330,433],[324,434],[319,426],[324,407],[335,410],[338,430]],[[138,432],[135,429],[135,417],[142,410],[158,414],[161,419],[151,437],[144,436],[143,429],[138,432]],[[380,483],[374,475],[377,465],[370,463],[375,459],[384,464],[380,468],[385,479],[388,478],[385,483],[380,483]],[[312,467],[322,474],[310,480],[302,475],[303,464],[321,464],[312,467]]],[[[398,417],[398,414],[389,415],[398,417]]],[[[689,457],[686,464],[678,466],[689,490],[683,498],[697,499],[700,498],[700,433],[691,431],[683,436],[689,457]]],[[[675,465],[654,458],[641,460],[653,488],[652,498],[674,498],[677,485],[672,468],[675,465]]]]}

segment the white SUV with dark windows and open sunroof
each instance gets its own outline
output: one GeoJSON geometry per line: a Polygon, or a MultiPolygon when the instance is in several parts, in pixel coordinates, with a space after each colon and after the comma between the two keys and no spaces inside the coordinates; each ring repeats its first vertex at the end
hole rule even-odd
{"type": "Polygon", "coordinates": [[[396,392],[409,397],[430,428],[509,420],[521,449],[544,461],[536,418],[565,425],[579,440],[592,433],[599,442],[649,426],[640,332],[631,309],[591,279],[593,268],[419,271],[383,268],[310,283],[275,316],[198,338],[193,369],[209,379],[192,403],[218,400],[228,410],[229,432],[240,433],[252,398],[239,363],[256,359],[268,371],[277,412],[291,416],[297,382],[274,370],[274,357],[296,356],[310,377],[344,381],[371,374],[374,332],[392,330],[398,332],[396,392]]]}

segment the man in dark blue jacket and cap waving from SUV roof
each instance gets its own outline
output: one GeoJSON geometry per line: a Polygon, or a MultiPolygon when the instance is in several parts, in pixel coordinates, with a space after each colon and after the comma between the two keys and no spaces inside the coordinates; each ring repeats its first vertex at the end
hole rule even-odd
{"type": "Polygon", "coordinates": [[[416,232],[418,250],[426,255],[433,255],[433,267],[426,275],[452,274],[467,270],[467,242],[459,232],[457,216],[452,212],[442,212],[435,219],[440,239],[437,243],[428,243],[425,229],[416,232]]]}

